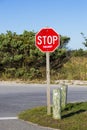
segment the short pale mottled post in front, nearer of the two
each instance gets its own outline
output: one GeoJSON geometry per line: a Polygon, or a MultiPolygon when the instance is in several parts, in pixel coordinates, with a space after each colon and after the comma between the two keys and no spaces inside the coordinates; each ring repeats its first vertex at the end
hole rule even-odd
{"type": "Polygon", "coordinates": [[[53,118],[61,119],[61,90],[53,90],[53,118]]]}

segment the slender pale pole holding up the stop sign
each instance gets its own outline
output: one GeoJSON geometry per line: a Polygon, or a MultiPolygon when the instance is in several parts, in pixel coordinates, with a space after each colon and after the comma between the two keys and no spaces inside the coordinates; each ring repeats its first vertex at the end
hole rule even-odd
{"type": "Polygon", "coordinates": [[[50,107],[50,55],[46,52],[46,75],[47,75],[47,114],[51,114],[50,107]]]}

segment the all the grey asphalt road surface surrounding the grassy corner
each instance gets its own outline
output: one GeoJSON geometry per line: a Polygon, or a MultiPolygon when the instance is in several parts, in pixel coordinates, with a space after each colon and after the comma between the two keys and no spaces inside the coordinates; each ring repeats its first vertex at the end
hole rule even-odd
{"type": "MultiPolygon", "coordinates": [[[[51,103],[52,91],[58,87],[51,85],[51,103]]],[[[87,101],[87,87],[69,86],[67,101],[87,101]]],[[[0,130],[50,130],[8,118],[16,117],[21,111],[40,105],[46,105],[46,85],[0,84],[0,130]]]]}

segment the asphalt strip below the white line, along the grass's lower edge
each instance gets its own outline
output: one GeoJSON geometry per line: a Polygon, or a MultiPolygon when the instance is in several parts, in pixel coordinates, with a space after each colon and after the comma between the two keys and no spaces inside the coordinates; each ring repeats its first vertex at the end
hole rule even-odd
{"type": "MultiPolygon", "coordinates": [[[[22,120],[1,120],[0,130],[55,130],[49,127],[42,127],[22,120]]],[[[58,130],[58,129],[57,129],[58,130]]]]}

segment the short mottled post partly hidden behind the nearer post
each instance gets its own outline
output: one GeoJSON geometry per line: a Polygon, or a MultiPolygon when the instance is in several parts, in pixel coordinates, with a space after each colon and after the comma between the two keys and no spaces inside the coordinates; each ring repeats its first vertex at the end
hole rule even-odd
{"type": "Polygon", "coordinates": [[[67,88],[68,86],[63,84],[61,86],[61,107],[64,108],[67,104],[67,88]]]}

